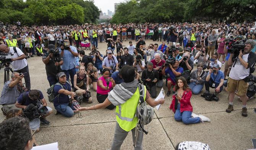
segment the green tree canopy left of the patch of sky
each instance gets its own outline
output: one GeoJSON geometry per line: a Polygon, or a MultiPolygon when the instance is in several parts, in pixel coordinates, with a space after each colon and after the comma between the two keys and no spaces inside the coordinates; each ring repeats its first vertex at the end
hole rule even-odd
{"type": "Polygon", "coordinates": [[[95,23],[99,9],[92,0],[0,0],[0,21],[22,24],[95,23]]]}

